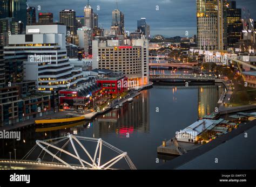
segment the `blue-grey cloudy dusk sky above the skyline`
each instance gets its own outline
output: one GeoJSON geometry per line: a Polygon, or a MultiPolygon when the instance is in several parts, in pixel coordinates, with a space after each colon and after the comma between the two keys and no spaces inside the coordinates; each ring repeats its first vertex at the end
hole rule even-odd
{"type": "MultiPolygon", "coordinates": [[[[73,9],[77,16],[82,16],[87,0],[28,0],[28,4],[40,5],[38,12],[52,12],[58,21],[58,13],[63,9],[73,9]]],[[[99,15],[99,23],[110,28],[116,0],[90,0],[90,4],[99,15]]],[[[237,7],[249,10],[251,17],[256,19],[256,0],[237,0],[237,7]]],[[[118,9],[125,15],[127,31],[136,30],[137,20],[144,17],[151,26],[151,35],[185,36],[186,31],[190,35],[196,34],[196,0],[118,0],[118,9]]]]}

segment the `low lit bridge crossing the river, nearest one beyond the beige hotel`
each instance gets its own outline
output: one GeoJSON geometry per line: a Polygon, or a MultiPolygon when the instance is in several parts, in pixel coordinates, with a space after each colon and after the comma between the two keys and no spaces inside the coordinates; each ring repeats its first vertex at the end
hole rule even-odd
{"type": "Polygon", "coordinates": [[[184,81],[216,81],[214,76],[210,75],[191,75],[191,74],[173,74],[173,75],[150,75],[150,81],[163,80],[184,80],[184,81]]]}

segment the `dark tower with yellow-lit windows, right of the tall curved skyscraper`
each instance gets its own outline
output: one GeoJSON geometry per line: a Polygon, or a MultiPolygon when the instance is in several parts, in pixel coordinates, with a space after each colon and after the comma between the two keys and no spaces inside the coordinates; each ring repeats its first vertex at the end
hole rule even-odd
{"type": "Polygon", "coordinates": [[[242,38],[242,10],[237,9],[235,1],[227,2],[227,44],[234,47],[242,38]]]}

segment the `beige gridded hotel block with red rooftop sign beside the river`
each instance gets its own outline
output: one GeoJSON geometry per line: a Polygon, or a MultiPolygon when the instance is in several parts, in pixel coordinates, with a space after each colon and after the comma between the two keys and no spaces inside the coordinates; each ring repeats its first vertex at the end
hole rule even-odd
{"type": "Polygon", "coordinates": [[[149,40],[133,40],[132,45],[120,45],[118,39],[92,41],[93,69],[122,71],[129,82],[149,83],[149,40]]]}

